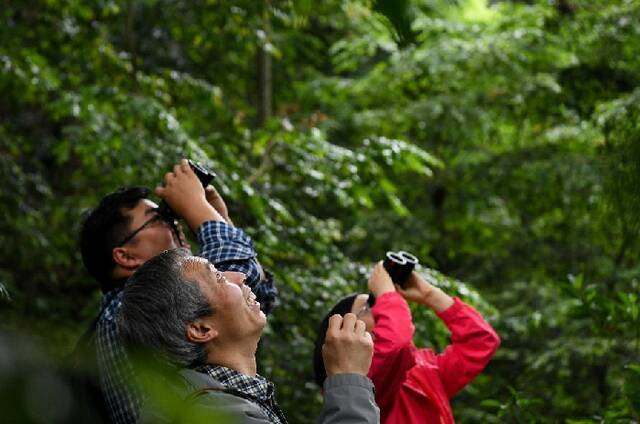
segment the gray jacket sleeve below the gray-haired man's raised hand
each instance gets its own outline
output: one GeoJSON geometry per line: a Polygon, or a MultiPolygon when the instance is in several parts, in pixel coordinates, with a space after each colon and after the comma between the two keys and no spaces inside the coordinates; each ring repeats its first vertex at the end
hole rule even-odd
{"type": "Polygon", "coordinates": [[[379,423],[373,383],[359,374],[337,374],[324,381],[320,424],[379,423]]]}

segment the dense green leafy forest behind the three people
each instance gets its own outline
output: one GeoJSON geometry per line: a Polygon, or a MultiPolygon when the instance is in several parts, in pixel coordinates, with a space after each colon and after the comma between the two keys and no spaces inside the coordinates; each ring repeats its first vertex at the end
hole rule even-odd
{"type": "Polygon", "coordinates": [[[83,211],[186,156],[277,278],[259,363],[291,422],[319,410],[316,322],[400,248],[502,338],[459,422],[638,422],[639,23],[632,0],[3,2],[0,328],[63,362],[99,303],[83,211]]]}

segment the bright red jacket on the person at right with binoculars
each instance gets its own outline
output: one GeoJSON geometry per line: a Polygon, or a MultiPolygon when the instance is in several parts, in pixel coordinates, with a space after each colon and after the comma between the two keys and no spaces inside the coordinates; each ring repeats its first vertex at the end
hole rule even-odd
{"type": "Polygon", "coordinates": [[[389,292],[376,298],[372,308],[373,362],[369,378],[383,424],[454,423],[451,399],[487,365],[500,339],[471,306],[455,298],[438,314],[451,331],[452,343],[444,352],[418,349],[414,326],[404,298],[389,292]]]}

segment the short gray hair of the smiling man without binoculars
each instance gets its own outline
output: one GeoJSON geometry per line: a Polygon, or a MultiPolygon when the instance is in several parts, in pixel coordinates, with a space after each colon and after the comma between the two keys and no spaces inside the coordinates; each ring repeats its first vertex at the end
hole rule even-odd
{"type": "Polygon", "coordinates": [[[198,283],[182,276],[188,257],[187,250],[173,249],[145,262],[129,278],[116,318],[128,348],[151,350],[180,367],[206,363],[204,344],[187,339],[186,331],[196,319],[214,313],[198,283]]]}

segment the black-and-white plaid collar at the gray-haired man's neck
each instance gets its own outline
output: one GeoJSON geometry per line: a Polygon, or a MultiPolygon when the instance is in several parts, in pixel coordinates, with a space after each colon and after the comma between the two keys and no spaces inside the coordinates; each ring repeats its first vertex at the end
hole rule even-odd
{"type": "Polygon", "coordinates": [[[196,371],[208,374],[227,389],[236,390],[252,399],[275,424],[286,424],[287,420],[276,402],[273,383],[261,375],[251,377],[221,365],[203,365],[196,371]]]}

